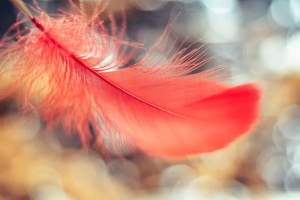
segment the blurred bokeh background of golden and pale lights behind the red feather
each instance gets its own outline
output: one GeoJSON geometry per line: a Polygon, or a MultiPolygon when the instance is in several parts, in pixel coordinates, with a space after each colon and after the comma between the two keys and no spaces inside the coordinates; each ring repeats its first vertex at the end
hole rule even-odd
{"type": "MultiPolygon", "coordinates": [[[[48,13],[68,8],[37,1],[48,13]]],[[[84,0],[88,12],[96,1],[84,0]]],[[[180,12],[168,45],[201,39],[189,50],[205,43],[207,56],[218,55],[195,72],[226,64],[231,82],[259,82],[258,125],[211,153],[162,160],[122,149],[119,159],[108,141],[108,156],[83,151],[76,136],[60,127],[49,134],[29,115],[24,123],[14,99],[1,99],[0,199],[300,199],[300,0],[111,0],[100,16],[107,25],[108,12],[120,24],[120,1],[128,40],[149,49],[180,12]]],[[[0,1],[0,37],[17,13],[0,1]]]]}

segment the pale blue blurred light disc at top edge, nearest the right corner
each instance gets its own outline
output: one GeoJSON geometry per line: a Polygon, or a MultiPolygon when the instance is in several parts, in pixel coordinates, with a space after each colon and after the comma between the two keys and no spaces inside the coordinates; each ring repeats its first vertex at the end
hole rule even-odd
{"type": "Polygon", "coordinates": [[[269,7],[269,14],[277,24],[283,27],[291,27],[294,24],[288,0],[273,0],[269,7]]]}

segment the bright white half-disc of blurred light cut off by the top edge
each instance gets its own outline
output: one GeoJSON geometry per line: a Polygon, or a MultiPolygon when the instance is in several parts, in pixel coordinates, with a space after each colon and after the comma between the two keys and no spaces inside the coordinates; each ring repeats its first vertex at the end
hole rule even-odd
{"type": "Polygon", "coordinates": [[[232,10],[236,5],[236,0],[201,0],[203,4],[212,12],[226,13],[232,10]]]}

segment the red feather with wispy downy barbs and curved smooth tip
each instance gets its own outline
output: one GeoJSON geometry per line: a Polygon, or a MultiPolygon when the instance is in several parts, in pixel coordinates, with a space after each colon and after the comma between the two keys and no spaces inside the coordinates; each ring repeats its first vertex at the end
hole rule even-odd
{"type": "MultiPolygon", "coordinates": [[[[49,127],[61,123],[67,131],[78,131],[86,146],[91,121],[98,144],[103,134],[112,141],[118,135],[150,155],[180,157],[225,147],[257,121],[256,85],[225,85],[213,79],[215,71],[186,75],[209,61],[205,51],[197,48],[183,56],[183,49],[167,60],[155,59],[155,53],[170,51],[165,49],[169,26],[140,61],[117,69],[135,52],[122,46],[140,48],[123,39],[125,23],[118,36],[115,31],[109,35],[98,13],[88,18],[78,10],[52,17],[38,10],[38,19],[31,18],[37,28],[21,35],[18,26],[24,21],[18,21],[11,28],[17,33],[0,43],[8,47],[2,59],[13,59],[12,67],[3,69],[16,78],[8,91],[20,86],[25,105],[30,101],[49,127]],[[41,100],[32,100],[41,92],[41,100]]],[[[115,30],[114,20],[111,24],[115,30]]]]}

